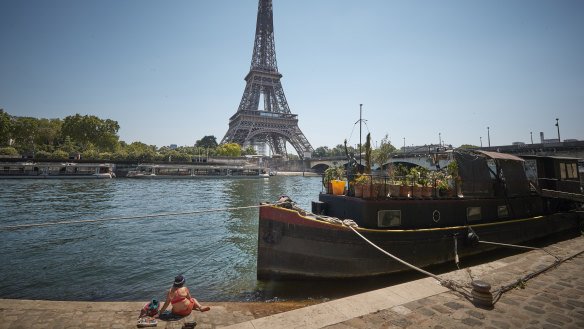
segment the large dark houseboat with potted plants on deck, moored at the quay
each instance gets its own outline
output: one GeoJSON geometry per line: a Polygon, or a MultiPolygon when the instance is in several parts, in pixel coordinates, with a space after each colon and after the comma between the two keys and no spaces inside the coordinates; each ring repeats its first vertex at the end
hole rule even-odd
{"type": "Polygon", "coordinates": [[[356,278],[408,269],[353,229],[417,267],[494,248],[480,242],[521,244],[582,230],[584,198],[576,159],[526,160],[473,150],[449,156],[458,167],[453,193],[391,192],[392,177],[385,183],[374,177],[366,187],[374,192],[356,196],[354,179],[347,177],[348,188],[321,193],[312,212],[291,204],[260,208],[258,279],[356,278]],[[385,186],[374,186],[375,180],[385,186]],[[347,226],[352,223],[353,229],[347,226]]]}

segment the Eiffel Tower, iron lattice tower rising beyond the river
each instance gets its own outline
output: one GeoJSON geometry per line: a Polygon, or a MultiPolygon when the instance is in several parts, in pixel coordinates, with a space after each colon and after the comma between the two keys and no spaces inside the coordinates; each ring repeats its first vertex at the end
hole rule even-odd
{"type": "Polygon", "coordinates": [[[246,147],[265,143],[272,154],[285,156],[289,142],[303,159],[305,152],[314,150],[298,127],[298,115],[290,112],[284,96],[282,74],[276,62],[273,18],[272,0],[260,0],[251,68],[245,77],[247,84],[237,112],[229,118],[229,130],[221,144],[246,147]],[[264,101],[261,110],[260,96],[264,101]]]}

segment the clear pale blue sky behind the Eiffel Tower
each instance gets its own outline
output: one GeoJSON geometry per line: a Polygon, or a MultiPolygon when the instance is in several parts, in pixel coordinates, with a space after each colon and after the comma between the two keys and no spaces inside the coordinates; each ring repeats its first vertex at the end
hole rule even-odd
{"type": "MultiPolygon", "coordinates": [[[[220,141],[257,0],[0,0],[0,108],[119,123],[128,143],[220,141]]],[[[584,139],[584,1],[274,0],[278,69],[314,148],[584,139]],[[404,140],[405,139],[405,140],[404,140]]],[[[293,151],[288,147],[288,152],[293,151]]]]}

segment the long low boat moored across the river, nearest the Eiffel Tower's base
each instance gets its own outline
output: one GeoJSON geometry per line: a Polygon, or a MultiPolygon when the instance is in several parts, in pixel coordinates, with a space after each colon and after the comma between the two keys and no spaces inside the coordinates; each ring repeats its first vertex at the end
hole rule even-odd
{"type": "Polygon", "coordinates": [[[127,178],[268,178],[269,170],[245,166],[213,166],[186,164],[141,164],[128,171],[127,178]]]}

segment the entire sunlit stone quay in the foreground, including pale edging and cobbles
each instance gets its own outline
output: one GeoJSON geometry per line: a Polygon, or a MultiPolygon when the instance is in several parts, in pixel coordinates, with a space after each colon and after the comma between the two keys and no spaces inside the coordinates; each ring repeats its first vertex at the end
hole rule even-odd
{"type": "MultiPolygon", "coordinates": [[[[346,298],[318,303],[204,303],[193,312],[157,328],[582,328],[584,327],[584,237],[556,242],[546,250],[565,259],[516,289],[504,293],[492,308],[475,306],[461,291],[451,291],[430,278],[346,298]]],[[[469,288],[469,273],[492,290],[553,264],[533,250],[441,277],[469,288]]],[[[464,263],[464,259],[462,260],[464,263]]],[[[470,289],[468,289],[470,290],[470,289]]],[[[129,328],[144,302],[57,302],[0,300],[0,328],[129,328]]]]}

